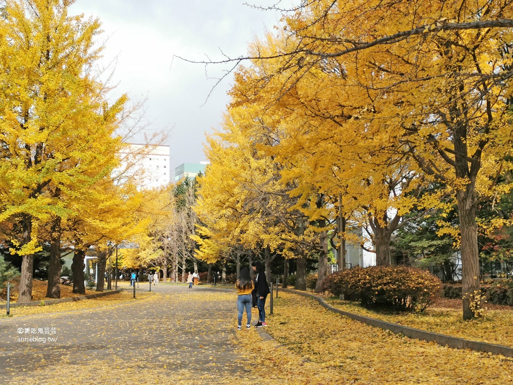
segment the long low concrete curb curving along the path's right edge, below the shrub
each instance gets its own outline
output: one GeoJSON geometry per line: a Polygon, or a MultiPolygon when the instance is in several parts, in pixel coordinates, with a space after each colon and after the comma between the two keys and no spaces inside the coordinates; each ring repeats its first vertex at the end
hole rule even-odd
{"type": "Polygon", "coordinates": [[[360,316],[357,314],[352,314],[344,312],[342,310],[335,309],[334,307],[331,307],[326,302],[324,302],[322,298],[310,293],[300,292],[289,288],[282,288],[281,290],[287,293],[298,294],[304,297],[311,297],[317,300],[323,307],[325,307],[327,310],[331,312],[343,315],[345,317],[365,323],[370,326],[374,326],[376,328],[389,330],[390,332],[395,334],[402,334],[409,338],[415,338],[424,341],[433,341],[438,343],[439,345],[447,346],[453,349],[470,349],[478,352],[502,354],[506,357],[513,357],[513,348],[504,345],[496,345],[480,341],[471,341],[463,338],[448,336],[445,334],[431,333],[420,329],[413,329],[409,328],[408,326],[398,325],[396,323],[380,321],[378,319],[360,316]]]}

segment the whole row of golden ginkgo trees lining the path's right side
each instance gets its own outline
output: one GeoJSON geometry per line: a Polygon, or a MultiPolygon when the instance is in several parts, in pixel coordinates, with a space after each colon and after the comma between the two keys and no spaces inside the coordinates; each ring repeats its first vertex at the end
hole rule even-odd
{"type": "Polygon", "coordinates": [[[313,0],[280,11],[247,56],[206,63],[237,66],[206,145],[199,255],[261,254],[267,267],[295,258],[301,287],[308,256],[318,284],[327,276],[329,244],[344,267],[349,226],[368,229],[383,266],[397,264],[399,232],[425,228],[431,245],[450,237],[460,250],[472,318],[478,236],[493,249],[511,233],[511,0],[313,0]]]}

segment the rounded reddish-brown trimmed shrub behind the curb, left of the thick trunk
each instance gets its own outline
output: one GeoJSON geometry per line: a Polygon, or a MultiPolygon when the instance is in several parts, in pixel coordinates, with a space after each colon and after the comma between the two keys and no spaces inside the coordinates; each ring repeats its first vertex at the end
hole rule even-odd
{"type": "Polygon", "coordinates": [[[353,267],[323,282],[325,290],[362,306],[422,312],[441,294],[442,282],[426,270],[412,267],[353,267]]]}

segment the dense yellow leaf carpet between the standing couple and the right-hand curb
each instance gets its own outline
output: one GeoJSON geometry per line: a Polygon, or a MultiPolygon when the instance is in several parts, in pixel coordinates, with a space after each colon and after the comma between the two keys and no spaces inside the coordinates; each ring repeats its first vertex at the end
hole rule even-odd
{"type": "MultiPolygon", "coordinates": [[[[513,383],[513,359],[400,337],[294,294],[274,299],[268,323],[267,331],[282,346],[266,342],[258,364],[268,368],[275,383],[513,383]],[[296,382],[298,376],[304,382],[296,382]]],[[[250,342],[245,346],[262,349],[250,342]]]]}

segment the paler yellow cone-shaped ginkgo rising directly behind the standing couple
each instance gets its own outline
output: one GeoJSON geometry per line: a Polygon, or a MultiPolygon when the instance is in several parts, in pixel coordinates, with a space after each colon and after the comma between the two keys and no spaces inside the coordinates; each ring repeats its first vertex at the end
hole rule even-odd
{"type": "MultiPolygon", "coordinates": [[[[238,84],[244,86],[244,82],[238,84]]],[[[261,252],[268,272],[271,258],[277,253],[298,258],[297,284],[301,284],[306,274],[301,266],[306,268],[310,251],[322,252],[319,234],[325,229],[317,231],[309,225],[312,218],[298,208],[304,202],[289,194],[294,183],[282,183],[282,165],[266,153],[267,147],[276,144],[270,130],[275,122],[261,119],[258,109],[262,106],[253,104],[251,108],[238,98],[239,91],[233,92],[223,131],[208,138],[210,165],[200,179],[196,206],[203,222],[195,238],[199,253],[215,261],[242,246],[261,252]]],[[[317,198],[309,191],[306,204],[315,206],[317,198]]]]}

